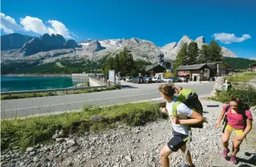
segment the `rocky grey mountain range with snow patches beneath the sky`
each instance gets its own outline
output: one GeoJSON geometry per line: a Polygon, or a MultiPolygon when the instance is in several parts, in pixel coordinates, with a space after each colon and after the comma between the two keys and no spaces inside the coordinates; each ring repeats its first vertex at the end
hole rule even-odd
{"type": "MultiPolygon", "coordinates": [[[[184,35],[179,42],[171,42],[158,47],[145,39],[88,39],[76,43],[73,39],[65,40],[59,34],[43,34],[40,37],[22,34],[8,34],[1,36],[1,62],[10,61],[40,61],[40,63],[56,62],[62,58],[72,60],[99,61],[106,56],[114,56],[123,47],[131,52],[134,59],[141,58],[151,63],[164,63],[175,60],[183,42],[193,42],[189,36],[184,35]]],[[[194,40],[199,49],[207,44],[203,36],[194,40]]],[[[225,57],[237,58],[231,50],[222,47],[225,57]]]]}

